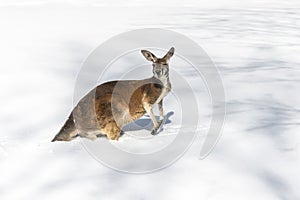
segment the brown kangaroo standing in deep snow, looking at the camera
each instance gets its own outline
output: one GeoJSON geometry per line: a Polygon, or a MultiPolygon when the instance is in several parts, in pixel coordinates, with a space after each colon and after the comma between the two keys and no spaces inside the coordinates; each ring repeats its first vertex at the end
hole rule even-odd
{"type": "Polygon", "coordinates": [[[152,135],[158,133],[164,118],[163,98],[170,92],[169,61],[172,47],[164,57],[157,58],[147,50],[143,56],[152,62],[153,76],[143,80],[118,80],[98,85],[85,95],[71,112],[69,118],[54,137],[54,141],[71,141],[79,137],[96,139],[106,135],[118,140],[122,127],[148,113],[152,122],[152,135]],[[158,104],[160,120],[153,114],[158,104]]]}

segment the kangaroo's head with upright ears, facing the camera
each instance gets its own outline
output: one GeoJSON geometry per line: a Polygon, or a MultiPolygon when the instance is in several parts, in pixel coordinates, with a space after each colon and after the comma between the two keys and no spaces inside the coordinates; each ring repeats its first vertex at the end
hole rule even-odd
{"type": "Polygon", "coordinates": [[[164,57],[157,58],[150,51],[142,50],[142,54],[145,56],[145,58],[152,62],[152,72],[154,77],[158,79],[169,77],[169,60],[173,56],[174,51],[175,49],[172,47],[164,57]]]}

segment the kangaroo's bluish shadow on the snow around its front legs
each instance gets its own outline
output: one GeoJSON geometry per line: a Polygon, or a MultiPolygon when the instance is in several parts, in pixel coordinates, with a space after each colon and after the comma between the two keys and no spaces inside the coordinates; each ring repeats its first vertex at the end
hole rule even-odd
{"type": "MultiPolygon", "coordinates": [[[[174,115],[173,111],[168,112],[165,115],[165,123],[164,124],[169,124],[172,121],[169,119],[172,115],[174,115]]],[[[139,131],[139,130],[148,130],[151,131],[153,128],[153,123],[150,119],[149,115],[145,115],[147,118],[142,118],[138,119],[130,124],[127,124],[122,128],[123,131],[139,131]]],[[[159,116],[155,116],[156,120],[159,121],[159,116]]]]}

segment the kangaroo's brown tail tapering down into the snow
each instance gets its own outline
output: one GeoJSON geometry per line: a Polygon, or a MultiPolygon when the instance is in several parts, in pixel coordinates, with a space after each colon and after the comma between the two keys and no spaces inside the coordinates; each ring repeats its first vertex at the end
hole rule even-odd
{"type": "Polygon", "coordinates": [[[55,141],[70,141],[77,136],[77,129],[74,123],[73,114],[71,113],[64,126],[51,142],[55,141]]]}

